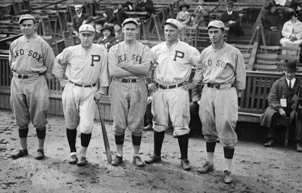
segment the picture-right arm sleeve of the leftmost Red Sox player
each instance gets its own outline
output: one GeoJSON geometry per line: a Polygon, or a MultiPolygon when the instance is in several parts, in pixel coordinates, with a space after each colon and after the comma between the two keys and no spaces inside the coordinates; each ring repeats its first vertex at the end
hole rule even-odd
{"type": "Polygon", "coordinates": [[[53,61],[54,61],[54,53],[52,48],[47,42],[41,44],[42,53],[43,53],[43,64],[46,66],[45,77],[47,79],[52,78],[52,68],[53,68],[53,61]]]}

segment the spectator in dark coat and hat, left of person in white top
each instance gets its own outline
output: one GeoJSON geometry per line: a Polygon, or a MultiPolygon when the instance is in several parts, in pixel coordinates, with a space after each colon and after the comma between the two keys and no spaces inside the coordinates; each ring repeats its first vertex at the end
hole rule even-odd
{"type": "Polygon", "coordinates": [[[265,40],[267,45],[276,46],[280,45],[280,31],[281,31],[281,17],[276,12],[276,3],[270,2],[266,7],[266,13],[261,18],[264,27],[265,40]]]}

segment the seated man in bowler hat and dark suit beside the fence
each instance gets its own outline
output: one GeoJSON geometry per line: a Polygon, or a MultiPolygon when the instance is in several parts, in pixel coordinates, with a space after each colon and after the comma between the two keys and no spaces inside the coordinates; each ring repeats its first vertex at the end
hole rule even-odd
{"type": "MultiPolygon", "coordinates": [[[[261,126],[268,129],[269,141],[264,144],[265,147],[272,147],[274,145],[274,138],[276,134],[276,121],[280,117],[289,117],[292,112],[292,99],[297,93],[298,85],[302,86],[302,80],[295,77],[296,62],[288,61],[285,67],[285,76],[276,80],[268,95],[269,107],[265,113],[260,116],[261,126]]],[[[302,152],[301,133],[302,133],[302,115],[301,112],[295,117],[295,138],[296,151],[302,152]]]]}

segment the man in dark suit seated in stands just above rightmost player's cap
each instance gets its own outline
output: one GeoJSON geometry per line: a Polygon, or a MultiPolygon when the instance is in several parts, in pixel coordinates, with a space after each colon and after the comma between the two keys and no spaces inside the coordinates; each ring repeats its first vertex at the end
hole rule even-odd
{"type": "Polygon", "coordinates": [[[240,26],[239,14],[233,10],[234,3],[229,1],[226,3],[226,11],[220,16],[220,21],[224,23],[225,27],[229,27],[230,34],[236,34],[237,37],[244,36],[244,32],[240,26]]]}

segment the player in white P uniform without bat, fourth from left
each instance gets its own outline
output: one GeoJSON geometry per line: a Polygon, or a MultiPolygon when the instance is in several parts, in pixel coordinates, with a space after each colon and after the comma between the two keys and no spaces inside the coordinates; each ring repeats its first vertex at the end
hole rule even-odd
{"type": "Polygon", "coordinates": [[[154,91],[152,102],[154,155],[147,164],[161,160],[165,130],[169,128],[169,114],[178,136],[183,169],[190,170],[188,160],[188,133],[190,122],[190,98],[187,81],[192,66],[200,68],[199,51],[178,39],[180,22],[168,19],[165,22],[166,42],[154,46],[151,51],[155,62],[154,81],[149,87],[154,91]]]}

